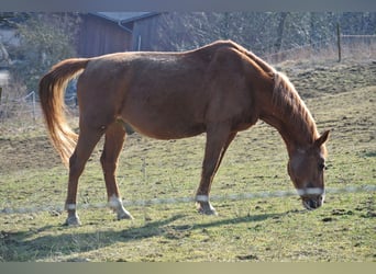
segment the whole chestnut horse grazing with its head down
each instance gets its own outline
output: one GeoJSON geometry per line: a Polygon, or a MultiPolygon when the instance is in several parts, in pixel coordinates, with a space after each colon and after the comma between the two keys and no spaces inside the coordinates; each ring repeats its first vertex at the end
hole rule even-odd
{"type": "Polygon", "coordinates": [[[210,186],[222,158],[240,130],[258,119],[281,135],[289,156],[288,174],[303,206],[314,209],[324,198],[323,171],[329,130],[316,123],[286,76],[231,41],[183,53],[118,53],[66,59],[40,82],[40,99],[53,145],[69,167],[67,225],[79,225],[78,179],[104,135],[100,158],[109,206],[118,219],[132,218],[115,182],[124,123],[157,139],[206,133],[201,181],[196,202],[202,214],[217,214],[210,186]],[[64,115],[64,90],[79,75],[79,136],[64,115]]]}

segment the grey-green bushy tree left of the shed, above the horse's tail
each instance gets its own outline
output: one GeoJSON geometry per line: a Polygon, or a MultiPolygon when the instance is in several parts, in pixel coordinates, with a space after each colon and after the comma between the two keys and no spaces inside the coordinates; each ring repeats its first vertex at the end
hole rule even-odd
{"type": "Polygon", "coordinates": [[[54,64],[76,56],[78,23],[73,13],[31,13],[18,24],[20,46],[10,53],[18,60],[11,66],[12,78],[36,91],[40,78],[54,64]]]}

